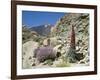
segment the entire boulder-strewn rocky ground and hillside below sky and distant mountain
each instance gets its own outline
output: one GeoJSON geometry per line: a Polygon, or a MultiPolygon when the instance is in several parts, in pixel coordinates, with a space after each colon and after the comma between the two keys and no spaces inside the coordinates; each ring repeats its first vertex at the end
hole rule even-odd
{"type": "Polygon", "coordinates": [[[89,14],[67,13],[49,30],[50,34],[45,37],[36,31],[32,35],[28,30],[23,31],[27,40],[23,44],[23,68],[89,65],[89,14]],[[71,48],[72,26],[75,49],[71,48]]]}

